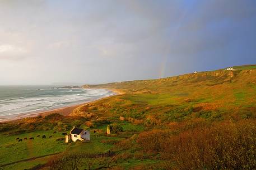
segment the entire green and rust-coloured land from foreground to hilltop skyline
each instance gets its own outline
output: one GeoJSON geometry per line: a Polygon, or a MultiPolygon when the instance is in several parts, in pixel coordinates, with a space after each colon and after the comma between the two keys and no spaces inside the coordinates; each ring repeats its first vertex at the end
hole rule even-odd
{"type": "Polygon", "coordinates": [[[55,164],[65,156],[76,160],[82,152],[80,169],[254,169],[256,66],[234,69],[85,85],[122,94],[82,105],[69,116],[53,114],[0,124],[0,166],[45,156],[2,168],[50,169],[52,160],[55,164]],[[125,120],[120,121],[120,116],[125,120]],[[109,124],[119,125],[123,132],[106,135],[109,124]],[[91,141],[56,141],[73,126],[90,129],[91,141]],[[38,134],[53,138],[36,138],[38,134]],[[18,143],[17,137],[35,139],[18,143]],[[109,150],[115,155],[91,158],[109,150]]]}

